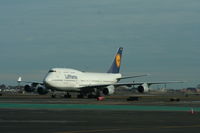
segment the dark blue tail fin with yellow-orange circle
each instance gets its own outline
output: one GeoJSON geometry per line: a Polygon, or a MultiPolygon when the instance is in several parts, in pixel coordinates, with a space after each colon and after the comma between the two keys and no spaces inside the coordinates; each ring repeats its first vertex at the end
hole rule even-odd
{"type": "Polygon", "coordinates": [[[107,71],[107,73],[119,73],[120,65],[121,65],[121,59],[122,59],[122,51],[123,51],[123,48],[120,47],[117,51],[117,54],[115,55],[115,59],[112,63],[112,66],[107,71]]]}

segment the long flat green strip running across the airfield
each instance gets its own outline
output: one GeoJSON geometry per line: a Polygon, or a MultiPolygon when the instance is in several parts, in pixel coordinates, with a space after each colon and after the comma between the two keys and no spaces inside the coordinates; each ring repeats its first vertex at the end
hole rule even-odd
{"type": "Polygon", "coordinates": [[[200,107],[140,106],[140,105],[92,105],[92,104],[12,104],[0,103],[0,108],[13,109],[102,109],[135,111],[200,111],[200,107]]]}

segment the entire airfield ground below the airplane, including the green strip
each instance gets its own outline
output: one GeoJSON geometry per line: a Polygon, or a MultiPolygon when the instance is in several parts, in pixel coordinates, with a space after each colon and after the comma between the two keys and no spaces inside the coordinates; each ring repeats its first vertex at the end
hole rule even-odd
{"type": "Polygon", "coordinates": [[[198,102],[4,96],[0,97],[0,132],[199,133],[199,111],[198,102]]]}

